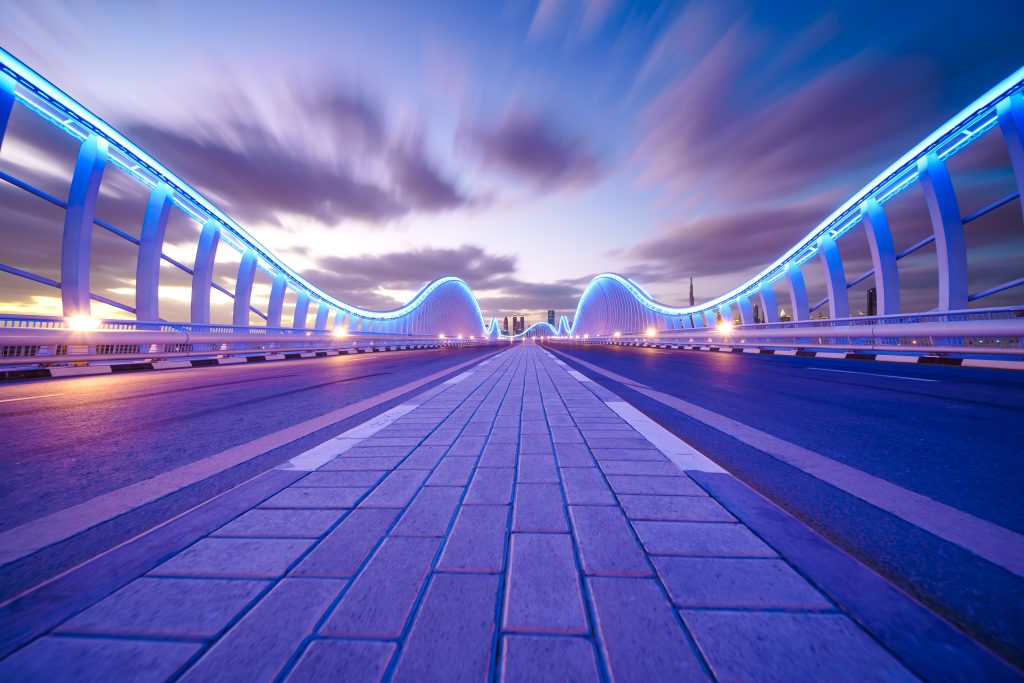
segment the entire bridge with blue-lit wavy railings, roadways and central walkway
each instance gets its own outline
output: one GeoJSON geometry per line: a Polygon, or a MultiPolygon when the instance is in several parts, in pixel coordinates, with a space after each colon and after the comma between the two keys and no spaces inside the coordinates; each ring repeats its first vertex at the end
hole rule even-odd
{"type": "Polygon", "coordinates": [[[1024,229],[1024,69],[732,290],[601,273],[513,336],[445,273],[319,289],[2,50],[0,180],[62,221],[48,267],[0,259],[59,297],[0,314],[4,680],[1022,676],[1024,259],[982,237],[1024,229]],[[59,195],[4,159],[39,126],[59,195]]]}

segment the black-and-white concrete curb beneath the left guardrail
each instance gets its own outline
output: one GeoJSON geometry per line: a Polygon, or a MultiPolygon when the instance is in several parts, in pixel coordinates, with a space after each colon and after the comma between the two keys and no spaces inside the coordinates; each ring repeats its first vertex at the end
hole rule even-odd
{"type": "Polygon", "coordinates": [[[440,348],[440,344],[418,344],[408,346],[373,346],[369,348],[328,349],[325,351],[296,351],[293,353],[262,353],[255,355],[231,355],[224,358],[197,358],[195,360],[153,360],[146,362],[122,362],[109,366],[69,366],[56,368],[33,368],[30,370],[0,371],[0,382],[17,380],[50,379],[57,377],[80,377],[86,375],[110,375],[112,373],[134,373],[145,370],[178,370],[181,368],[208,368],[210,366],[234,366],[244,362],[264,362],[269,360],[297,360],[303,358],[325,358],[329,356],[371,353],[375,351],[416,351],[440,348]]]}

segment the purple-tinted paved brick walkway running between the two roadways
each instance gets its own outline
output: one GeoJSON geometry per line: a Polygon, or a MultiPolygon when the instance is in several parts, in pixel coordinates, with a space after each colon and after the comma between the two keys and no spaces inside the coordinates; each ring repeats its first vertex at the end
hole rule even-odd
{"type": "Polygon", "coordinates": [[[0,679],[913,680],[618,400],[501,353],[300,456],[0,679]]]}

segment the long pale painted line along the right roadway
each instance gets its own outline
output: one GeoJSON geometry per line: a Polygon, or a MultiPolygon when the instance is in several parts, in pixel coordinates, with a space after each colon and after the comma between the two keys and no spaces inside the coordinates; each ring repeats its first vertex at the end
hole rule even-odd
{"type": "Polygon", "coordinates": [[[709,427],[810,474],[816,479],[885,510],[1018,577],[1024,577],[1024,536],[891,481],[814,453],[719,413],[639,384],[558,350],[584,368],[628,385],[648,398],[675,409],[709,427]]]}

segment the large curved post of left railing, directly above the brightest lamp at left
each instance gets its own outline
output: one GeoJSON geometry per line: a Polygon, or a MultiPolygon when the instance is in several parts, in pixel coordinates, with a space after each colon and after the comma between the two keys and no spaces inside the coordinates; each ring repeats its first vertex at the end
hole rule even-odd
{"type": "Polygon", "coordinates": [[[89,255],[99,182],[106,167],[106,140],[89,135],[75,162],[60,244],[60,300],[65,315],[88,315],[89,255]]]}

